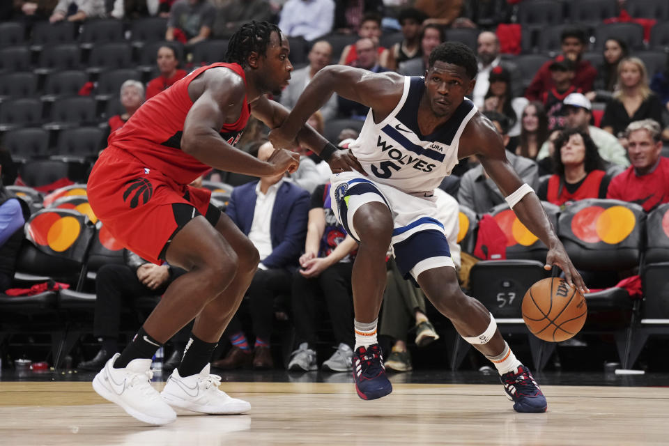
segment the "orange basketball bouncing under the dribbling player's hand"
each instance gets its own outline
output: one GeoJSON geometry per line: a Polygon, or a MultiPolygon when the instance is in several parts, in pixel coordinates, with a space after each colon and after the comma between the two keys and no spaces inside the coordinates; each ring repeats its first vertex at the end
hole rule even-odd
{"type": "Polygon", "coordinates": [[[576,286],[560,277],[541,279],[523,298],[523,320],[530,332],[551,342],[566,341],[578,333],[587,317],[587,305],[576,286]]]}

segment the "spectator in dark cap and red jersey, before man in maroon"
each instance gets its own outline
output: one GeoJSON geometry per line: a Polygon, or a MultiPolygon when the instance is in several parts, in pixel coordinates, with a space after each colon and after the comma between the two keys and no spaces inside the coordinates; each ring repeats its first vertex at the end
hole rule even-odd
{"type": "Polygon", "coordinates": [[[571,59],[560,54],[553,59],[549,69],[553,86],[548,91],[544,91],[541,102],[544,102],[544,109],[548,116],[548,130],[555,130],[555,128],[564,127],[562,101],[571,93],[581,93],[581,90],[574,85],[574,62],[571,59]]]}

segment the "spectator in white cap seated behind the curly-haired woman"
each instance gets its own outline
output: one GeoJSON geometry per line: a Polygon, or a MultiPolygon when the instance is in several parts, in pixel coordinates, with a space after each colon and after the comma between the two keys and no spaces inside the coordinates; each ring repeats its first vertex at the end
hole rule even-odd
{"type": "MultiPolygon", "coordinates": [[[[578,128],[590,134],[592,141],[597,145],[599,156],[603,160],[621,167],[629,166],[629,159],[626,151],[613,134],[602,130],[601,128],[590,125],[592,119],[592,104],[585,95],[581,93],[571,93],[562,101],[562,111],[566,116],[565,128],[578,128]]],[[[551,155],[550,142],[546,141],[541,149],[537,160],[541,160],[551,155]]]]}

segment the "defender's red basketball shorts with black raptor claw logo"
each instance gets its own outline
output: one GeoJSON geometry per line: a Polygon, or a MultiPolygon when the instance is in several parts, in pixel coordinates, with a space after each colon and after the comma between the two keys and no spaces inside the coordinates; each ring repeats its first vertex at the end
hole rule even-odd
{"type": "Polygon", "coordinates": [[[209,203],[209,190],[175,183],[113,146],[95,163],[87,194],[93,212],[114,238],[157,264],[187,222],[203,215],[215,226],[221,216],[209,203]]]}

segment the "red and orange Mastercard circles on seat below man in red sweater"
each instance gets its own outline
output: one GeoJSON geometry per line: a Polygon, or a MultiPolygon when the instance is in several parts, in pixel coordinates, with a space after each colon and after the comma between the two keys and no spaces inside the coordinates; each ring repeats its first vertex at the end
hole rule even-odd
{"type": "Polygon", "coordinates": [[[571,232],[585,243],[603,242],[617,245],[625,240],[635,227],[636,215],[624,206],[610,208],[588,206],[571,217],[571,232]]]}

